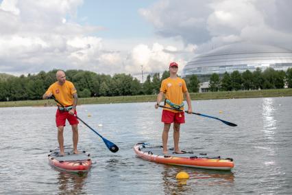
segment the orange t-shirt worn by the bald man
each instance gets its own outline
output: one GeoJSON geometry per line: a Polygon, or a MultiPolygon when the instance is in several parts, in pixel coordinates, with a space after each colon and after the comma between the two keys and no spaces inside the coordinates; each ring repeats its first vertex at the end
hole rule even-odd
{"type": "Polygon", "coordinates": [[[64,84],[60,85],[57,82],[51,84],[46,94],[53,93],[53,96],[64,106],[73,105],[73,94],[77,93],[74,84],[68,80],[64,84]]]}

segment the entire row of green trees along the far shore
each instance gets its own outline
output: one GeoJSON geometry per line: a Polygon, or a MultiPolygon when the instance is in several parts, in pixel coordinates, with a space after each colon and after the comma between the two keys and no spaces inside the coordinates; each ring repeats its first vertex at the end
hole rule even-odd
{"type": "MultiPolygon", "coordinates": [[[[40,71],[37,74],[19,77],[0,74],[0,101],[41,99],[50,84],[56,82],[56,72],[54,69],[47,73],[40,71]]],[[[141,84],[136,78],[125,73],[117,73],[114,76],[83,70],[68,70],[65,73],[66,80],[75,84],[80,98],[157,94],[162,80],[169,77],[169,71],[164,71],[161,76],[160,73],[154,73],[152,77],[148,75],[141,84]]],[[[199,91],[197,76],[193,75],[184,80],[189,92],[199,91]]],[[[231,74],[224,73],[221,78],[213,73],[210,76],[210,91],[280,89],[285,83],[292,88],[292,69],[288,69],[286,73],[273,69],[266,69],[263,72],[260,69],[243,73],[234,71],[231,74]]]]}

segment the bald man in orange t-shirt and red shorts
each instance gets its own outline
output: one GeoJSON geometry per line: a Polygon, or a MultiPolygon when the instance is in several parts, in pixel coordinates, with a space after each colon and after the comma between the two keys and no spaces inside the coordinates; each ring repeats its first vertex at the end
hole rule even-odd
{"type": "Polygon", "coordinates": [[[73,131],[73,152],[78,154],[77,143],[78,143],[78,120],[74,115],[77,115],[77,91],[74,84],[66,80],[64,71],[57,71],[56,73],[57,82],[51,84],[47,92],[42,95],[42,99],[50,98],[51,95],[55,96],[56,100],[60,102],[66,108],[58,105],[56,112],[56,125],[58,128],[58,142],[60,147],[60,155],[64,156],[64,126],[66,119],[72,126],[73,131]]]}

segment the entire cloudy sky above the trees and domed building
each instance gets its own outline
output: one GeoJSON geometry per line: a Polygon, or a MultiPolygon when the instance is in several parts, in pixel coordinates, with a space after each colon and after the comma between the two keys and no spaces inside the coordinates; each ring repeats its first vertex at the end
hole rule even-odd
{"type": "Polygon", "coordinates": [[[290,0],[0,0],[0,73],[165,71],[250,41],[292,49],[290,0]]]}

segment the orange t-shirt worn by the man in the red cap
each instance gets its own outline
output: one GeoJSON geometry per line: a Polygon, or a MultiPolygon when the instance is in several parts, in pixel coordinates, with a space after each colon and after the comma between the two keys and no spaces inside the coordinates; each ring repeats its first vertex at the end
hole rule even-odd
{"type": "MultiPolygon", "coordinates": [[[[165,98],[170,100],[173,104],[182,104],[184,101],[184,94],[188,89],[186,88],[186,82],[182,78],[166,78],[162,80],[160,91],[165,93],[165,98]]],[[[165,106],[170,107],[169,104],[165,106]]],[[[181,108],[183,109],[183,108],[181,108]]],[[[172,111],[177,113],[178,111],[173,111],[171,109],[166,109],[168,111],[172,111]]]]}

